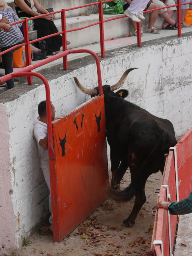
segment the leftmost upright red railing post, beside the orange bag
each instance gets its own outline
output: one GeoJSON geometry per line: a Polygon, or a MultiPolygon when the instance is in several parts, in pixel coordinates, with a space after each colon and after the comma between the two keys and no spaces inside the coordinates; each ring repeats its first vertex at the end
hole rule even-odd
{"type": "MultiPolygon", "coordinates": [[[[24,33],[24,42],[25,45],[25,58],[26,58],[26,66],[31,65],[31,56],[30,56],[30,47],[29,47],[29,32],[28,32],[28,21],[27,18],[24,18],[23,22],[23,33],[24,33]]],[[[27,83],[32,84],[32,76],[27,77],[27,83]]]]}

